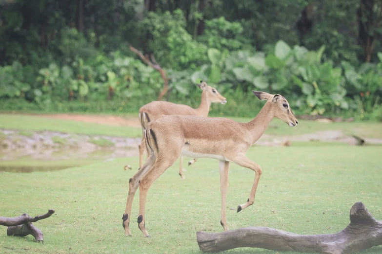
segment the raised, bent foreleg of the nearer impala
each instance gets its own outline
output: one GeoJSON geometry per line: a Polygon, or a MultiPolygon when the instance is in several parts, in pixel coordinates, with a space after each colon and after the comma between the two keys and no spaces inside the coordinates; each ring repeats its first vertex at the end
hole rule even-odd
{"type": "Polygon", "coordinates": [[[255,180],[253,181],[251,193],[249,194],[248,200],[245,203],[238,205],[238,213],[239,213],[241,210],[244,210],[248,206],[252,205],[253,202],[255,201],[256,189],[261,177],[261,167],[259,164],[249,160],[244,153],[239,153],[235,158],[232,158],[230,160],[238,164],[239,166],[252,169],[253,171],[256,172],[255,180]]]}

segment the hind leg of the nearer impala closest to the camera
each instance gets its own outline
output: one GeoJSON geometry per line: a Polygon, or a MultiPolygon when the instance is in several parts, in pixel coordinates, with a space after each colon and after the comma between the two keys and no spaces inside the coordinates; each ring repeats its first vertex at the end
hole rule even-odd
{"type": "Polygon", "coordinates": [[[145,220],[145,206],[146,206],[146,197],[147,192],[150,186],[153,184],[158,177],[166,171],[172,164],[175,163],[176,159],[179,157],[181,153],[181,149],[179,153],[171,153],[162,154],[157,156],[157,161],[154,163],[154,166],[141,178],[139,182],[139,216],[138,216],[138,227],[141,229],[144,237],[150,237],[146,226],[144,223],[145,220]]]}

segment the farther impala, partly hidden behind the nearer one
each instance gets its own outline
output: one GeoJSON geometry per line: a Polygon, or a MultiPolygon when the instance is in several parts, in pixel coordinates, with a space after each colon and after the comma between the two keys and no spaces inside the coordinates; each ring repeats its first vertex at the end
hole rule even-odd
{"type": "MultiPolygon", "coordinates": [[[[207,86],[207,83],[201,81],[198,86],[201,88],[201,104],[199,108],[193,109],[187,105],[175,104],[167,101],[153,101],[141,107],[139,110],[139,119],[141,121],[142,133],[146,129],[147,124],[150,121],[163,116],[163,115],[195,115],[195,116],[208,116],[211,103],[225,104],[227,100],[213,87],[207,86]]],[[[144,135],[142,135],[141,145],[139,145],[139,166],[142,166],[143,153],[146,149],[144,135]]],[[[196,159],[190,161],[188,165],[196,162],[196,159]]],[[[181,179],[184,179],[182,173],[183,158],[180,160],[179,175],[181,179]]]]}

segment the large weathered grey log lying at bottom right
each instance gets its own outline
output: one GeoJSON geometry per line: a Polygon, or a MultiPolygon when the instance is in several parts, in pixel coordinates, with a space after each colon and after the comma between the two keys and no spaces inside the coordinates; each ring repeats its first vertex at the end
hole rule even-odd
{"type": "Polygon", "coordinates": [[[248,227],[221,233],[196,233],[204,252],[221,252],[240,247],[275,251],[348,254],[382,245],[382,221],[369,213],[362,202],[350,210],[350,224],[336,234],[298,235],[267,227],[248,227]]]}

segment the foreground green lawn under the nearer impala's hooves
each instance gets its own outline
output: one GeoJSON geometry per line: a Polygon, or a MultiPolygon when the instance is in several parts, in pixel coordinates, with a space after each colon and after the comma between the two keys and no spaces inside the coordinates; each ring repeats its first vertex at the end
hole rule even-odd
{"type": "MultiPolygon", "coordinates": [[[[240,213],[236,207],[247,200],[254,172],[231,164],[230,229],[266,226],[298,234],[336,233],[348,225],[350,208],[358,201],[382,219],[382,146],[310,144],[250,148],[247,155],[261,165],[262,176],[255,203],[240,213]]],[[[56,210],[35,223],[44,234],[43,245],[32,236],[6,236],[6,227],[0,227],[0,253],[201,253],[196,232],[222,231],[218,162],[200,159],[184,172],[184,181],[177,161],[151,187],[146,203],[151,238],[143,238],[138,229],[137,192],[133,237],[124,236],[128,180],[136,172],[124,171],[125,164],[137,168],[138,158],[52,172],[0,173],[1,216],[56,210]]],[[[227,253],[277,252],[242,248],[227,253]]],[[[382,247],[364,253],[382,253],[382,247]]]]}

